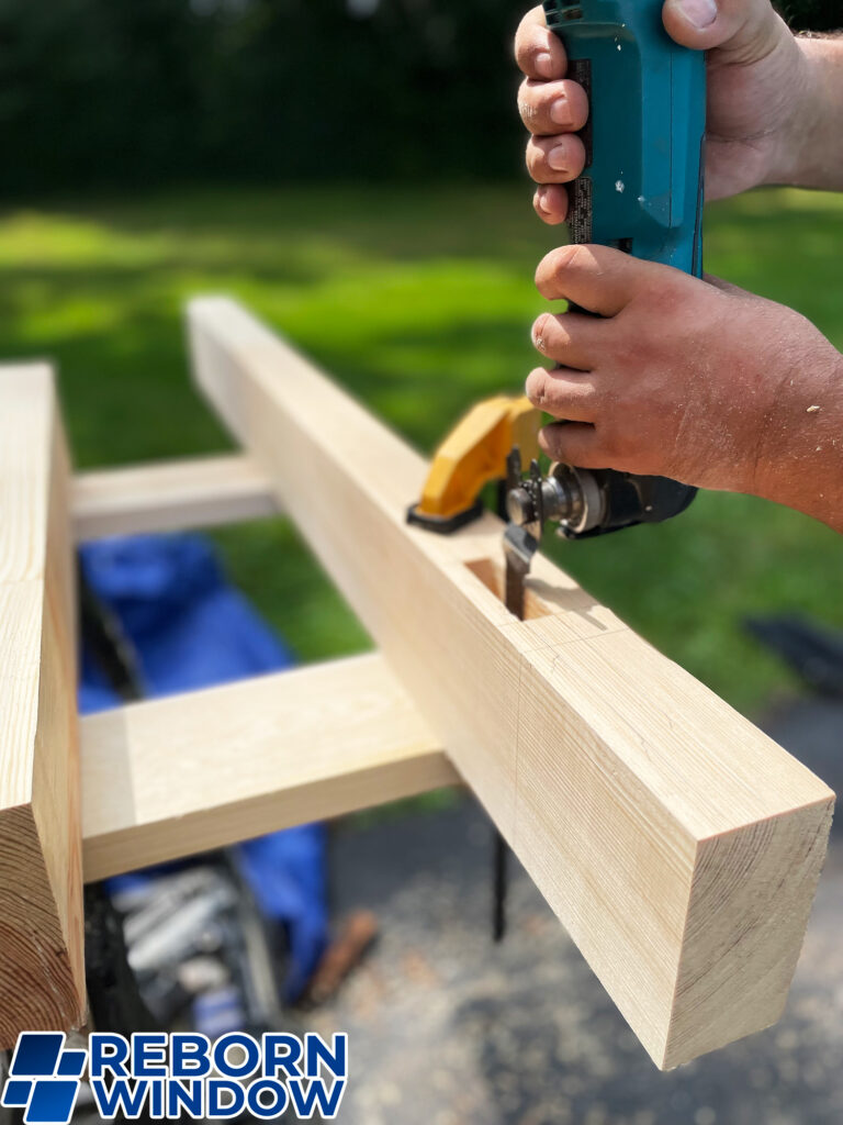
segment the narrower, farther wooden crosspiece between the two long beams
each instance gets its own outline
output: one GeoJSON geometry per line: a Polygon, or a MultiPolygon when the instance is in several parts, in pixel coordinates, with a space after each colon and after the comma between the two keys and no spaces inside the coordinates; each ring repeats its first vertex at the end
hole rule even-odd
{"type": "Polygon", "coordinates": [[[78,542],[212,528],[275,514],[269,480],[242,454],[82,472],[73,480],[78,542]]]}

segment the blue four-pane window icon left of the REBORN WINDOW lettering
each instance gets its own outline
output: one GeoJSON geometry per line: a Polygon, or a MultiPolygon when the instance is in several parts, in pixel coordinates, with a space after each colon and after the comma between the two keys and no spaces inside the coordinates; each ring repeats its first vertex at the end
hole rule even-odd
{"type": "Polygon", "coordinates": [[[66,1125],[73,1116],[87,1051],[64,1050],[61,1032],[24,1032],[0,1105],[22,1109],[26,1125],[66,1125]]]}

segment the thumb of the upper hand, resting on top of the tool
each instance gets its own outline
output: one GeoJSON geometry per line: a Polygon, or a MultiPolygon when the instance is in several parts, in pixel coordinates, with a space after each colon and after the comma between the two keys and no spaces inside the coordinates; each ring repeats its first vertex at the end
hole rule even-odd
{"type": "Polygon", "coordinates": [[[665,0],[668,34],[685,47],[720,48],[733,63],[753,63],[770,54],[785,24],[770,0],[665,0]]]}

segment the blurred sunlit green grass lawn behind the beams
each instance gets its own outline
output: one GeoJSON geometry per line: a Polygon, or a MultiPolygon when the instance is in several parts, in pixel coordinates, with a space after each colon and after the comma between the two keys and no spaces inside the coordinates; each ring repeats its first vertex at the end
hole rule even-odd
{"type": "MultiPolygon", "coordinates": [[[[707,266],[800,309],[843,348],[842,223],[843,197],[768,191],[720,205],[707,266]]],[[[57,361],[80,467],[224,449],[188,381],[180,310],[189,295],[229,292],[432,450],[475,399],[520,389],[541,308],[533,271],[558,237],[534,218],[526,184],[185,191],[9,208],[0,356],[57,361]]],[[[368,645],[285,523],[215,538],[303,659],[368,645]]],[[[709,494],[673,523],[550,549],[744,710],[788,684],[743,634],[746,614],[790,610],[843,626],[843,543],[761,501],[709,494]]]]}

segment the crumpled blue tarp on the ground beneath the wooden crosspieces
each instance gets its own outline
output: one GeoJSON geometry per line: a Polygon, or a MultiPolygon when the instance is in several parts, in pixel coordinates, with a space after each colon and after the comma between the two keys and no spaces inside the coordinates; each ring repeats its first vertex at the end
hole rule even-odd
{"type": "MultiPolygon", "coordinates": [[[[81,549],[80,562],[89,586],[134,646],[149,698],[278,672],[294,663],[226,582],[211,547],[198,536],[90,543],[81,549]]],[[[81,711],[102,711],[119,702],[83,647],[81,711]]],[[[294,999],[327,940],[324,829],[292,828],[236,850],[261,910],[287,929],[287,992],[294,999]]]]}

